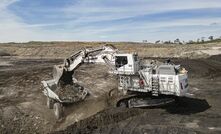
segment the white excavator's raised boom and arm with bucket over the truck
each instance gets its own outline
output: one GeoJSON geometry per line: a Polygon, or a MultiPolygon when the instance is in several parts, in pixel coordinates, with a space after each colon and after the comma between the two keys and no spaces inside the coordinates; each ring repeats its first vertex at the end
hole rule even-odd
{"type": "Polygon", "coordinates": [[[64,60],[61,65],[55,65],[53,68],[53,79],[56,84],[69,84],[73,82],[73,73],[82,63],[107,63],[111,66],[114,55],[118,52],[113,46],[102,46],[99,48],[84,48],[69,58],[64,60]]]}

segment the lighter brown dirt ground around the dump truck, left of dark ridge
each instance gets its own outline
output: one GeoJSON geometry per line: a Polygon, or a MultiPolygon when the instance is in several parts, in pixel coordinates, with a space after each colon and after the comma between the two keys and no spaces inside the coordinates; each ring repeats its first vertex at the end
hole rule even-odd
{"type": "Polygon", "coordinates": [[[106,102],[101,98],[116,88],[115,76],[108,74],[105,65],[81,66],[75,76],[85,88],[90,89],[89,96],[84,102],[65,106],[66,118],[56,120],[53,111],[46,107],[41,81],[52,79],[53,65],[60,64],[62,60],[1,58],[0,61],[2,133],[46,133],[64,129],[103,110],[106,102]],[[88,83],[83,84],[83,81],[88,83]]]}

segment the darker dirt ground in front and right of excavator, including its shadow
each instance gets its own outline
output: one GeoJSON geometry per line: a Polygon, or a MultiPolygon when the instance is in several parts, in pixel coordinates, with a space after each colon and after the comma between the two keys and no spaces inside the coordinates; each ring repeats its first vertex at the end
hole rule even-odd
{"type": "Polygon", "coordinates": [[[172,61],[189,70],[193,96],[161,108],[109,108],[55,133],[221,133],[221,55],[172,61]]]}

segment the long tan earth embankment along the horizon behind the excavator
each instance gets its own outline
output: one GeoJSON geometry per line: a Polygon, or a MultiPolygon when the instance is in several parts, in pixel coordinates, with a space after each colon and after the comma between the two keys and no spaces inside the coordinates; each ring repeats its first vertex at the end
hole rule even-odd
{"type": "Polygon", "coordinates": [[[0,48],[7,50],[10,54],[22,57],[47,57],[66,58],[83,47],[99,47],[108,44],[116,46],[124,52],[138,52],[143,57],[189,57],[202,58],[220,49],[220,43],[215,44],[142,44],[132,42],[36,42],[22,44],[1,44],[0,48]],[[139,47],[138,47],[139,46],[139,47]]]}

